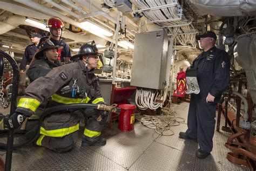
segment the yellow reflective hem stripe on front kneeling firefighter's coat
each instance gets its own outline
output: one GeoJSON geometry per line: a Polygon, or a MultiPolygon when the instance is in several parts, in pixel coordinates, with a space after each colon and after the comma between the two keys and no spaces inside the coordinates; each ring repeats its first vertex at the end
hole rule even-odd
{"type": "Polygon", "coordinates": [[[88,103],[91,99],[89,97],[86,97],[84,99],[82,98],[69,98],[69,97],[63,97],[57,94],[53,94],[51,96],[52,101],[63,103],[63,104],[74,104],[74,103],[88,103]]]}

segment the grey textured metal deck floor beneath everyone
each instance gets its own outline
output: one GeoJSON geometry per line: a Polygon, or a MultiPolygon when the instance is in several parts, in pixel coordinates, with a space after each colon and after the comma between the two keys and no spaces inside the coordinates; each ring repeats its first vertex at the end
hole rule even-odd
{"type": "MultiPolygon", "coordinates": [[[[107,138],[103,147],[80,147],[79,139],[68,153],[35,146],[18,149],[12,156],[12,170],[248,170],[226,159],[230,150],[224,143],[229,134],[223,131],[215,132],[211,155],[196,158],[197,141],[178,138],[178,133],[187,129],[188,103],[172,108],[177,117],[185,119],[184,124],[172,127],[173,136],[159,136],[140,122],[131,132],[120,132],[114,124],[112,130],[103,131],[107,138]]],[[[79,134],[81,137],[82,131],[79,134]]],[[[0,151],[0,158],[5,160],[5,151],[0,151]]]]}

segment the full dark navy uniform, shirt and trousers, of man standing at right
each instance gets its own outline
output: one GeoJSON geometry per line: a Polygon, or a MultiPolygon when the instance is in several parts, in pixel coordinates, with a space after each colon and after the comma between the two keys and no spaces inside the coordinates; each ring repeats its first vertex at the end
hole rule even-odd
{"type": "Polygon", "coordinates": [[[225,51],[214,46],[201,53],[190,68],[198,68],[200,92],[191,95],[186,135],[197,139],[201,150],[210,153],[213,148],[216,106],[230,79],[230,59],[225,51]],[[209,92],[215,97],[214,102],[206,102],[209,92]]]}

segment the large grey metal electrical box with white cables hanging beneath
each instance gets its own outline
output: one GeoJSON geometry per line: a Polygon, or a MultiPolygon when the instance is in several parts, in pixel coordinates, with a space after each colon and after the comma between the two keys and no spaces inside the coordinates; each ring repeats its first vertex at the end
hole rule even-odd
{"type": "MultiPolygon", "coordinates": [[[[172,42],[170,42],[172,44],[172,42]]],[[[167,57],[168,35],[164,30],[135,35],[131,69],[131,86],[164,89],[169,79],[171,56],[167,57]],[[166,75],[167,73],[167,75],[166,75]]],[[[169,49],[172,51],[172,48],[169,49]]],[[[171,53],[172,54],[172,53],[171,53]]]]}

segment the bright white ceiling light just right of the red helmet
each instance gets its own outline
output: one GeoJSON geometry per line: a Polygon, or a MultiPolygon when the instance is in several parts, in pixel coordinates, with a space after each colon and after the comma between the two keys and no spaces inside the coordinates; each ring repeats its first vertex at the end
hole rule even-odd
{"type": "Polygon", "coordinates": [[[112,32],[105,30],[104,28],[102,28],[101,26],[91,22],[90,20],[86,20],[85,22],[80,23],[81,25],[83,25],[84,30],[89,31],[91,33],[95,33],[97,34],[102,34],[105,35],[107,37],[110,37],[113,35],[112,32]]]}

